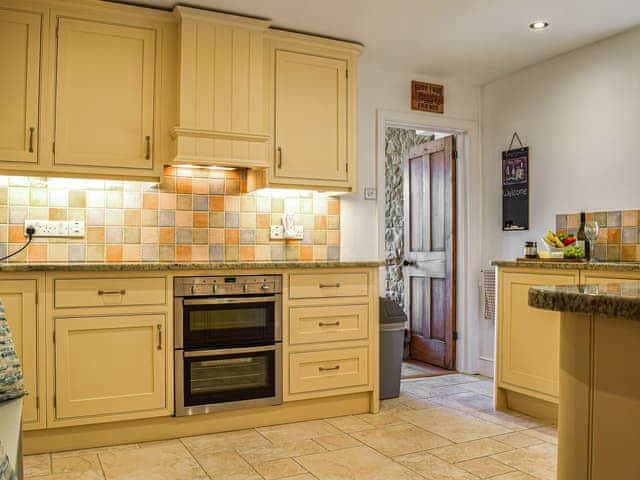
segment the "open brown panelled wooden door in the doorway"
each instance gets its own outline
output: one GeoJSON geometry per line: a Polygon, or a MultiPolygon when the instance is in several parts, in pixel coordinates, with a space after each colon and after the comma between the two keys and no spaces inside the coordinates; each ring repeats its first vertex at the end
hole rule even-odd
{"type": "Polygon", "coordinates": [[[412,147],[404,164],[405,302],[411,358],[455,368],[455,138],[412,147]]]}

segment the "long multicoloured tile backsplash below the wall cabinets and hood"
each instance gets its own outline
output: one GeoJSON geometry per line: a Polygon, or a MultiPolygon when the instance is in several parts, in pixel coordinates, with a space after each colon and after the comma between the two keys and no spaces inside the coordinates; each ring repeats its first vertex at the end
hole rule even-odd
{"type": "Polygon", "coordinates": [[[0,256],[24,220],[82,220],[85,237],[34,238],[11,262],[310,261],[340,258],[340,200],[312,192],[241,193],[242,171],[166,167],[160,184],[0,176],[0,256]],[[303,240],[270,240],[295,214],[303,240]]]}

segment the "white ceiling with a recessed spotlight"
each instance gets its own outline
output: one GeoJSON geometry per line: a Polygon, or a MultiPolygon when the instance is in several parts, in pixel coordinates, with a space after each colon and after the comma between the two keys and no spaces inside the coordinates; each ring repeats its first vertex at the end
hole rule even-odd
{"type": "Polygon", "coordinates": [[[487,83],[640,24],[638,0],[117,0],[266,17],[355,40],[384,69],[487,83]],[[532,32],[532,20],[551,27],[532,32]]]}

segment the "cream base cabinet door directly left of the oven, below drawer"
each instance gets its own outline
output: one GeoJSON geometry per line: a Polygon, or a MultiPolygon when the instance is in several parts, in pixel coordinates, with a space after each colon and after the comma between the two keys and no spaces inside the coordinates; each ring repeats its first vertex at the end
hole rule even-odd
{"type": "Polygon", "coordinates": [[[165,407],[165,316],[55,319],[56,418],[165,407]]]}

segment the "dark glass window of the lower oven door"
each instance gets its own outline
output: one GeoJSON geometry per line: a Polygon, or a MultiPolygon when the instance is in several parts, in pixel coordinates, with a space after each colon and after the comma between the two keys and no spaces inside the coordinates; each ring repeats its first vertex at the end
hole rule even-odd
{"type": "Polygon", "coordinates": [[[185,358],[185,406],[273,397],[275,352],[185,358]]]}

